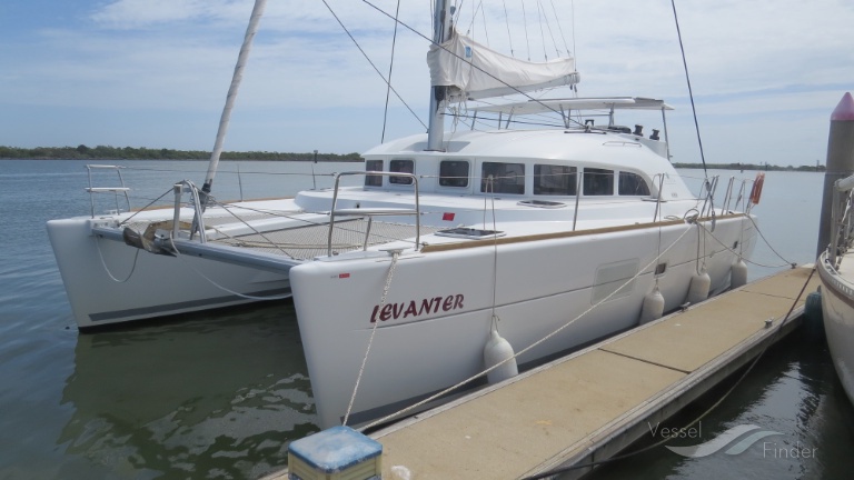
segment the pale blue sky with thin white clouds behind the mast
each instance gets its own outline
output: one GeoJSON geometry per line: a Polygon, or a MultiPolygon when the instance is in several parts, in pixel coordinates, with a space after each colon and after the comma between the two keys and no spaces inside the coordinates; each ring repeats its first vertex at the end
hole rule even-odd
{"type": "MultiPolygon", "coordinates": [[[[824,163],[831,112],[854,90],[854,2],[675,2],[706,162],[824,163]]],[[[3,0],[0,146],[209,151],[252,3],[3,0]]],[[[579,97],[666,100],[674,161],[701,160],[671,0],[451,3],[457,29],[490,48],[574,54],[579,97]]],[[[225,149],[379,143],[387,88],[376,70],[388,76],[395,23],[371,4],[394,16],[398,1],[268,0],[225,149]]],[[[430,2],[399,9],[391,84],[408,108],[391,94],[386,140],[423,132],[429,101],[429,44],[409,28],[430,36],[430,2]]]]}

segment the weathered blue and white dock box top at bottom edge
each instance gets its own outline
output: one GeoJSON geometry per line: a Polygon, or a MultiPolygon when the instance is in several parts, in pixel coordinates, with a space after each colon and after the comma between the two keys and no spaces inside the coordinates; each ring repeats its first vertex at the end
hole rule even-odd
{"type": "Polygon", "coordinates": [[[349,427],[332,427],[288,447],[288,478],[309,480],[337,478],[380,478],[383,444],[349,427]],[[356,472],[363,474],[352,476],[356,472]]]}

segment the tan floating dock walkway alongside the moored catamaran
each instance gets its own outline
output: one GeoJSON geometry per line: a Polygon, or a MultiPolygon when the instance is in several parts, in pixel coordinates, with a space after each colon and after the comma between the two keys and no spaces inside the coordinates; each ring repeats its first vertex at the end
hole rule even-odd
{"type": "Polygon", "coordinates": [[[375,432],[383,478],[405,469],[411,479],[510,479],[613,457],[649,434],[647,422],[667,419],[794,330],[817,276],[777,332],[810,271],[748,283],[375,432]]]}

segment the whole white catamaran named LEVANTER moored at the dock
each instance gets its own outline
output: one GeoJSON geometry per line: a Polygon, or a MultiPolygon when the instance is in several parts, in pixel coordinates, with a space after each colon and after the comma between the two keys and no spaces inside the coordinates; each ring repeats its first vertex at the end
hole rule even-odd
{"type": "Polygon", "coordinates": [[[478,128],[444,132],[450,102],[578,82],[573,59],[500,57],[454,32],[445,9],[436,2],[429,132],[367,151],[335,188],[211,206],[185,181],[171,210],[50,221],[78,324],[292,289],[328,427],[476,376],[494,331],[533,363],[731,286],[756,241],[761,183],[747,198],[731,179],[718,206],[716,179],[692,194],[669,162],[671,108],[655,99],[469,106],[478,128]],[[640,110],[662,114],[649,136],[615,121],[640,110]],[[557,124],[509,128],[545,114],[557,124]],[[350,176],[364,184],[341,187],[350,176]]]}

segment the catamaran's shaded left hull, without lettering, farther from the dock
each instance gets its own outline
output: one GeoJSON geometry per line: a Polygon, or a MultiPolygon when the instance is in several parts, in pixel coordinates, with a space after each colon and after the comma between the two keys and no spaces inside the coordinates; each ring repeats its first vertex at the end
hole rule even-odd
{"type": "Polygon", "coordinates": [[[48,222],[59,272],[81,329],[281,297],[287,273],[152,254],[92,233],[92,219],[48,222]],[[216,284],[215,284],[216,283],[216,284]]]}

